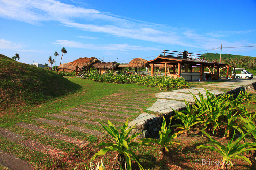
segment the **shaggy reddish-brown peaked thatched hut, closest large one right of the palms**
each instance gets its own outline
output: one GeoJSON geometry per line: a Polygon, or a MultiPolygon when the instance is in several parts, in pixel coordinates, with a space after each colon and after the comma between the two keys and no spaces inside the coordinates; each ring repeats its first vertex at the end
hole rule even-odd
{"type": "Polygon", "coordinates": [[[82,76],[85,72],[87,72],[91,68],[92,64],[98,63],[98,62],[100,62],[100,61],[95,57],[91,57],[91,58],[80,57],[79,59],[77,59],[73,62],[70,62],[67,66],[75,66],[76,67],[76,76],[77,75],[82,76]]]}

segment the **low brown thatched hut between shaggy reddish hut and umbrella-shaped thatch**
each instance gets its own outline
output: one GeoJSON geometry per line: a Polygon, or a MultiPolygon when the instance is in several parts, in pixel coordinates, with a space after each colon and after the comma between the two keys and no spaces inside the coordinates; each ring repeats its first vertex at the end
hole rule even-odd
{"type": "Polygon", "coordinates": [[[92,68],[97,69],[101,74],[107,70],[118,70],[119,64],[117,62],[99,62],[91,65],[92,68]]]}

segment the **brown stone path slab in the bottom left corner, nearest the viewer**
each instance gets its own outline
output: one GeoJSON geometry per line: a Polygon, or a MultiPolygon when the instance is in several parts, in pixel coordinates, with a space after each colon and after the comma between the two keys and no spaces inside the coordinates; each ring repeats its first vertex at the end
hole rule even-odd
{"type": "Polygon", "coordinates": [[[11,170],[33,170],[30,163],[19,159],[14,154],[9,154],[3,150],[0,150],[0,163],[3,166],[7,166],[11,170]]]}

